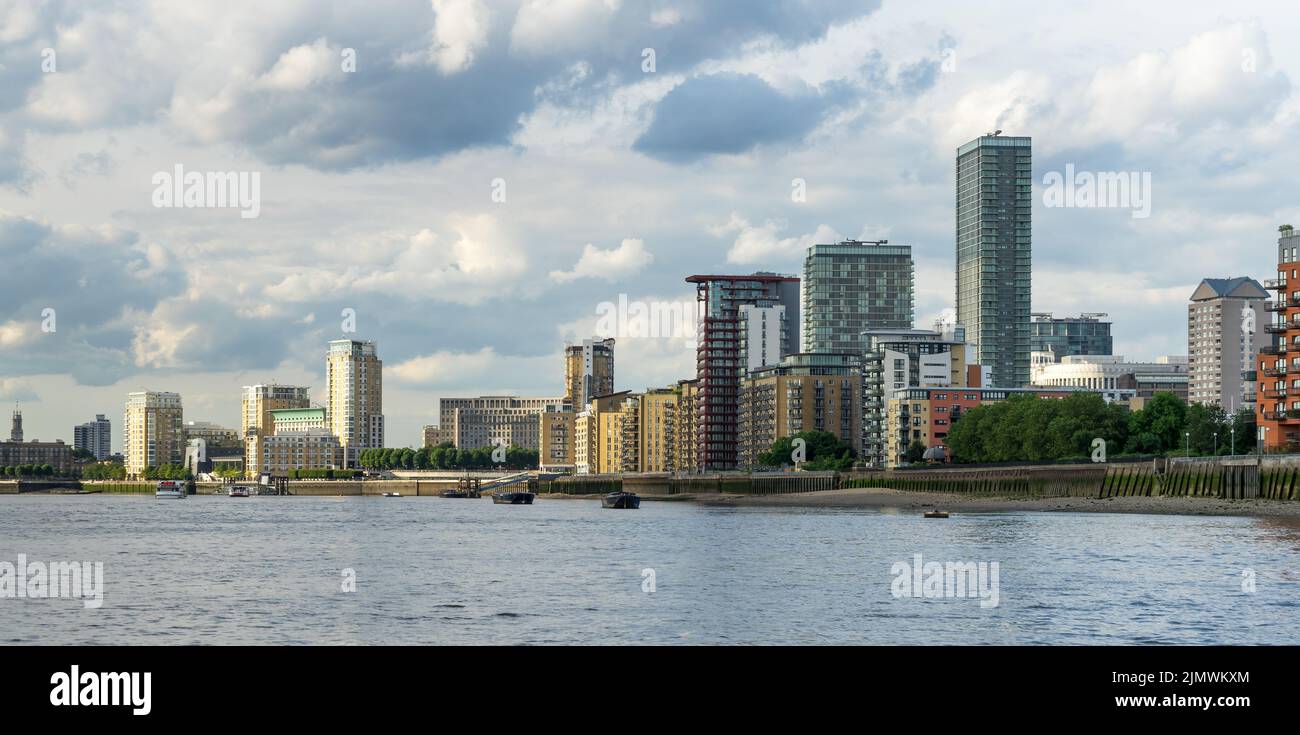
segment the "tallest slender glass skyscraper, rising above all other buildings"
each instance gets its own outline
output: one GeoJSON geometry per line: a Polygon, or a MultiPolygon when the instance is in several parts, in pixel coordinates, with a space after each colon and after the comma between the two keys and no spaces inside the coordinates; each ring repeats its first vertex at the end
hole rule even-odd
{"type": "Polygon", "coordinates": [[[1032,177],[1027,137],[957,148],[957,323],[997,388],[1030,382],[1032,177]]]}

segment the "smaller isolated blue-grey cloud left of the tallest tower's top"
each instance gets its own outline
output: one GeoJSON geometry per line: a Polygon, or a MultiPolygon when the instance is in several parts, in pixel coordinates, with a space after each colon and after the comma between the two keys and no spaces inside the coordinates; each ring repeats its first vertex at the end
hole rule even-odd
{"type": "Polygon", "coordinates": [[[757,146],[797,142],[833,107],[829,96],[786,96],[750,74],[693,77],[655,107],[654,121],[633,148],[670,163],[757,146]]]}

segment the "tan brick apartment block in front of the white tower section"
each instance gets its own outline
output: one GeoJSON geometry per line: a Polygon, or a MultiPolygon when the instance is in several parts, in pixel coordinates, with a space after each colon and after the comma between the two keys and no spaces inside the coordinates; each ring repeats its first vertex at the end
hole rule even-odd
{"type": "Polygon", "coordinates": [[[741,384],[737,463],[758,467],[758,458],[783,437],[829,432],[862,451],[862,355],[800,353],[781,364],[757,369],[741,384]]]}

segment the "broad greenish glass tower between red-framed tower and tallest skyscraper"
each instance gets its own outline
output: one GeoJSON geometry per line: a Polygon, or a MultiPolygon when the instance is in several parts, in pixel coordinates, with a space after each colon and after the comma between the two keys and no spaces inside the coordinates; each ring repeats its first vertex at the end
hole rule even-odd
{"type": "Polygon", "coordinates": [[[803,351],[855,353],[868,329],[911,329],[911,246],[848,239],[803,259],[803,351]]]}

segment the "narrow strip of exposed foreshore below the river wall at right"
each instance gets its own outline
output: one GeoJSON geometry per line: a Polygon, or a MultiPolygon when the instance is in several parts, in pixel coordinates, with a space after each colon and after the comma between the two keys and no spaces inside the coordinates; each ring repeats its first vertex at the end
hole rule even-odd
{"type": "MultiPolygon", "coordinates": [[[[649,498],[647,498],[649,500],[649,498]]],[[[684,498],[685,500],[685,498],[684,498]]],[[[1248,515],[1300,520],[1300,502],[1295,501],[1228,501],[1197,497],[985,497],[952,493],[904,493],[879,488],[854,488],[792,493],[780,496],[693,496],[690,500],[715,506],[784,506],[784,507],[876,507],[909,513],[946,510],[949,513],[980,511],[1067,511],[1067,513],[1145,513],[1162,515],[1248,515]]]]}

